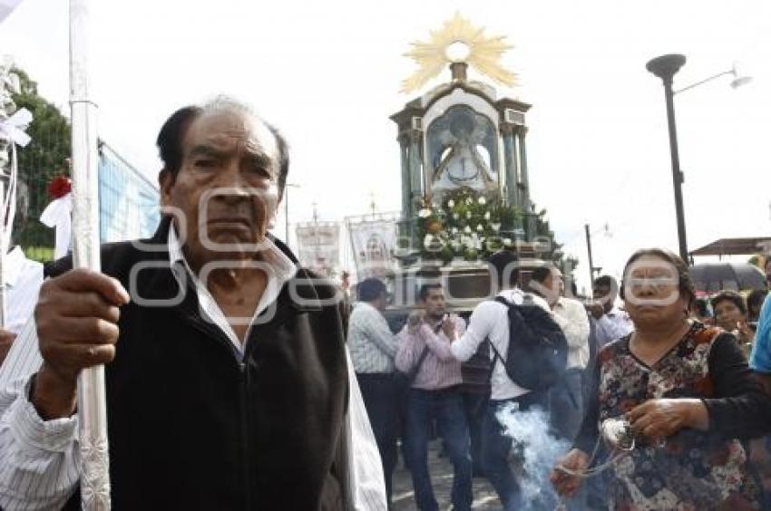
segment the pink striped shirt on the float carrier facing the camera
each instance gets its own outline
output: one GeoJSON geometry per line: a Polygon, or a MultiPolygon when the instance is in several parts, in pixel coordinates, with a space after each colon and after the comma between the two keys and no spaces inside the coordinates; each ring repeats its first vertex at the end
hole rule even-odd
{"type": "MultiPolygon", "coordinates": [[[[455,332],[463,335],[466,323],[464,319],[451,315],[455,323],[455,332]]],[[[458,362],[450,350],[450,340],[439,330],[434,333],[439,323],[423,323],[416,333],[409,333],[409,326],[399,333],[399,351],[396,353],[396,368],[409,372],[415,367],[423,349],[428,346],[428,354],[415,376],[412,387],[422,390],[441,390],[460,385],[464,379],[461,374],[461,362],[458,362]]]]}

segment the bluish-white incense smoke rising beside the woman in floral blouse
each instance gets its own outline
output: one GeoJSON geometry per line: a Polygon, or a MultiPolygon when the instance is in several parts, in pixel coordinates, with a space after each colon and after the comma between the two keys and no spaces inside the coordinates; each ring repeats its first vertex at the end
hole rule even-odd
{"type": "Polygon", "coordinates": [[[570,443],[551,435],[549,414],[542,409],[520,411],[518,403],[507,403],[495,417],[503,426],[503,434],[513,440],[514,472],[521,472],[517,479],[522,502],[528,503],[528,509],[554,509],[560,501],[549,475],[570,443]]]}

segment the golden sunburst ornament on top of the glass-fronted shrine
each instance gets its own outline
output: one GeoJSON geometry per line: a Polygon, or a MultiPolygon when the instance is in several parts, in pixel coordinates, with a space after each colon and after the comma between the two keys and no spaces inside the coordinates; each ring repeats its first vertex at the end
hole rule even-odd
{"type": "Polygon", "coordinates": [[[468,63],[476,71],[495,82],[511,87],[516,75],[504,69],[501,56],[512,45],[505,42],[505,35],[487,37],[483,27],[476,27],[460,13],[444,22],[442,30],[431,33],[431,41],[412,43],[413,49],[405,53],[419,66],[412,76],[402,82],[402,92],[414,92],[444,70],[448,63],[468,63]]]}

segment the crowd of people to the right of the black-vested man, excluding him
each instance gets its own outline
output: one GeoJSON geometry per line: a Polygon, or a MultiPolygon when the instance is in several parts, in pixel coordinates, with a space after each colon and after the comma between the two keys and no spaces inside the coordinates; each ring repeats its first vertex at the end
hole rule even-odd
{"type": "Polygon", "coordinates": [[[356,286],[348,346],[389,506],[401,443],[416,506],[438,509],[427,464],[434,437],[454,468],[454,509],[471,508],[473,477],[486,477],[507,510],[555,502],[569,509],[771,506],[762,467],[771,457],[756,439],[771,431],[771,399],[761,384],[771,374],[771,347],[756,342],[771,331],[766,292],[697,300],[688,265],[662,249],[632,255],[620,285],[597,278],[594,300],[583,302],[566,296],[553,265],[533,268],[526,285],[511,252],[489,265],[498,296],[542,308],[564,333],[565,370],[548,390],[522,388],[506,371],[500,353],[515,340],[500,301],[483,301],[464,319],[450,312],[441,284],[424,284],[419,304],[392,332],[385,284],[369,278],[356,286]],[[517,459],[522,449],[500,415],[512,403],[519,412],[547,412],[544,427],[572,446],[555,460],[551,499],[522,492],[529,477],[517,459]],[[611,419],[623,420],[633,448],[609,438],[611,419]]]}

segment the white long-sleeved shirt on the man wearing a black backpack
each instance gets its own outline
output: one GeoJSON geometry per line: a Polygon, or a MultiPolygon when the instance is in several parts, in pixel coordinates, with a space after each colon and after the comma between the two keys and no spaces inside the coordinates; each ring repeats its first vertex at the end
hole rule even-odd
{"type": "MultiPolygon", "coordinates": [[[[527,295],[532,297],[534,305],[541,307],[553,316],[549,304],[542,297],[534,294],[527,295]]],[[[522,305],[525,293],[521,289],[515,288],[504,290],[498,296],[503,296],[512,304],[522,305]]],[[[450,346],[453,356],[460,362],[466,362],[485,339],[490,340],[501,356],[506,356],[509,351],[509,310],[505,305],[494,300],[486,300],[473,310],[466,332],[450,346]]],[[[490,356],[493,359],[492,350],[490,356]]],[[[493,363],[490,384],[493,387],[490,396],[493,400],[510,400],[530,392],[528,389],[522,389],[509,378],[506,374],[506,368],[500,361],[493,363]]]]}

